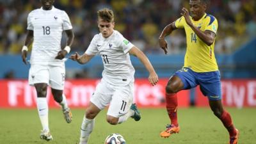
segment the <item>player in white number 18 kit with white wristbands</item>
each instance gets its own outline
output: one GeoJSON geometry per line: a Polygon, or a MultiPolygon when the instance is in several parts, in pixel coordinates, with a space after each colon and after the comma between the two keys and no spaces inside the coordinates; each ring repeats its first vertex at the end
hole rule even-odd
{"type": "Polygon", "coordinates": [[[29,84],[35,86],[37,109],[43,130],[40,138],[52,140],[48,122],[47,85],[51,86],[54,100],[60,104],[67,123],[72,120],[63,88],[65,82],[65,56],[74,40],[72,25],[66,12],[54,8],[54,0],[41,0],[42,8],[28,15],[28,32],[22,47],[22,60],[27,64],[28,46],[33,42],[29,69],[29,84]],[[62,32],[67,34],[67,46],[61,49],[62,32]]]}

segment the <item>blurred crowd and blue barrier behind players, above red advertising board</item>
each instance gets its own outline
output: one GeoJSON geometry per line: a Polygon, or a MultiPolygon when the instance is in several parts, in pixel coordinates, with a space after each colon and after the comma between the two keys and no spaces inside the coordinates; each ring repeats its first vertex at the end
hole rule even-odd
{"type": "MultiPolygon", "coordinates": [[[[168,56],[159,48],[158,36],[167,24],[180,17],[182,7],[189,9],[189,0],[55,0],[54,6],[65,10],[72,22],[72,52],[86,51],[90,40],[99,33],[97,10],[111,8],[115,29],[147,54],[159,77],[170,77],[183,65],[184,30],[166,37],[168,56]]],[[[27,79],[29,65],[22,63],[20,49],[26,37],[28,13],[40,7],[40,0],[0,0],[0,79],[27,79]]],[[[207,13],[218,19],[215,53],[221,76],[256,77],[256,1],[211,0],[207,13]]],[[[131,59],[135,77],[147,77],[140,61],[131,59]]],[[[99,78],[102,69],[100,58],[93,58],[86,65],[66,61],[67,78],[99,78]]]]}

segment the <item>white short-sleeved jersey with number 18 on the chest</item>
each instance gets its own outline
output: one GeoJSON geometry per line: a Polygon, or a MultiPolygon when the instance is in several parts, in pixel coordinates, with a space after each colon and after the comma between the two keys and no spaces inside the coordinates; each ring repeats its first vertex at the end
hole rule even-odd
{"type": "Polygon", "coordinates": [[[67,13],[52,6],[51,10],[39,8],[28,15],[28,28],[34,31],[30,63],[45,63],[55,60],[61,50],[61,36],[64,30],[72,29],[67,13]]]}

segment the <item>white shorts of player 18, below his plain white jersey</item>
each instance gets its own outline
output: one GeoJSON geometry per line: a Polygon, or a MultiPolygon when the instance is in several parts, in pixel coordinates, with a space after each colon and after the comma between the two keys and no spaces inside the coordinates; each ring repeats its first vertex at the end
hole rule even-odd
{"type": "Polygon", "coordinates": [[[65,83],[65,63],[60,65],[33,64],[29,69],[29,84],[47,83],[51,88],[63,90],[65,83]]]}

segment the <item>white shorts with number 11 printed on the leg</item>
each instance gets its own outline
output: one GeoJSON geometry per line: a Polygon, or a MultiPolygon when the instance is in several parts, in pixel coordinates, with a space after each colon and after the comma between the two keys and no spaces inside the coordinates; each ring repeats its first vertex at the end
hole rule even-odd
{"type": "Polygon", "coordinates": [[[90,101],[99,109],[104,109],[109,104],[107,115],[118,118],[125,115],[131,108],[133,87],[133,82],[126,86],[114,86],[102,79],[96,86],[90,101]]]}

